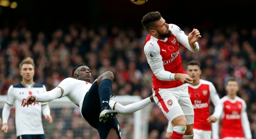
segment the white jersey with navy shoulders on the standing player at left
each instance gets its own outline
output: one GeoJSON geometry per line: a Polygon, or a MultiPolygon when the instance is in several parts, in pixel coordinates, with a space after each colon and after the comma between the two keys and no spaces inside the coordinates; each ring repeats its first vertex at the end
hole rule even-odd
{"type": "Polygon", "coordinates": [[[15,123],[17,136],[24,134],[44,134],[42,126],[41,106],[47,103],[34,102],[29,107],[23,107],[23,103],[30,95],[40,94],[46,91],[42,84],[33,84],[31,88],[21,82],[11,85],[8,89],[6,103],[15,104],[15,123]]]}

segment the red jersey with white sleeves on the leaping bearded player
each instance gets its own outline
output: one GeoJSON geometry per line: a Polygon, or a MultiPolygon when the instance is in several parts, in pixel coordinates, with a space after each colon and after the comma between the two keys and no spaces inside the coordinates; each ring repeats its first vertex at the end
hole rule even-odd
{"type": "Polygon", "coordinates": [[[153,71],[153,88],[175,88],[183,83],[175,80],[175,73],[186,73],[182,68],[179,43],[192,52],[199,50],[196,42],[196,48],[192,49],[188,42],[188,36],[177,25],[169,24],[172,32],[170,37],[157,39],[147,35],[145,40],[144,52],[147,62],[153,71]]]}

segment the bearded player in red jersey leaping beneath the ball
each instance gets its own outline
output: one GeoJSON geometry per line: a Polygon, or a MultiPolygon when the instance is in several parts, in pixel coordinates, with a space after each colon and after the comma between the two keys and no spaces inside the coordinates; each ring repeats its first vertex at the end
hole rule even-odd
{"type": "Polygon", "coordinates": [[[171,139],[191,139],[194,111],[187,83],[192,83],[192,79],[182,68],[179,43],[197,52],[200,32],[193,29],[187,36],[177,25],[167,24],[159,12],[147,13],[141,23],[149,32],[144,53],[153,71],[154,100],[173,125],[171,139]]]}

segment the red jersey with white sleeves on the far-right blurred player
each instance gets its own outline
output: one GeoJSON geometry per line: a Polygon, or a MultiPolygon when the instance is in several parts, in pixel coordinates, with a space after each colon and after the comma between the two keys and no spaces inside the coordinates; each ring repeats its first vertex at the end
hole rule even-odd
{"type": "MultiPolygon", "coordinates": [[[[221,138],[240,137],[251,139],[250,124],[246,112],[246,103],[238,96],[230,99],[224,96],[220,99],[223,112],[221,138]]],[[[213,124],[213,138],[217,139],[218,124],[213,124]]]]}

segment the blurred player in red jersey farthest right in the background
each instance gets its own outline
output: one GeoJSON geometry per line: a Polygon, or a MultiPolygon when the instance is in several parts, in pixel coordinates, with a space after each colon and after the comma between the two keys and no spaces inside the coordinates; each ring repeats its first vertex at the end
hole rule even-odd
{"type": "MultiPolygon", "coordinates": [[[[238,82],[231,78],[225,87],[227,95],[220,99],[217,109],[222,113],[221,139],[251,139],[246,103],[237,96],[238,82]]],[[[220,121],[220,120],[217,120],[220,121]]],[[[219,139],[219,122],[212,124],[213,139],[219,139]]]]}

